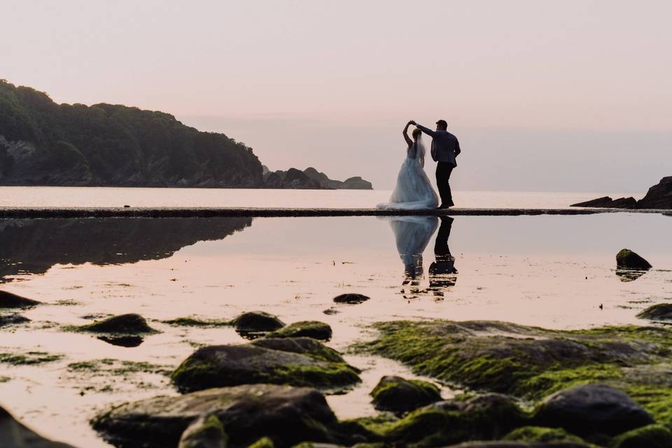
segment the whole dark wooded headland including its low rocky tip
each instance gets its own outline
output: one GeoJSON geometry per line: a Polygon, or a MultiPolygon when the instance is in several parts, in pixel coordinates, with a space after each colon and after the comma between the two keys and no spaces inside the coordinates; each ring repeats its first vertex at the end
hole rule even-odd
{"type": "Polygon", "coordinates": [[[301,179],[290,173],[288,181],[283,174],[281,181],[266,183],[252,149],[224,134],[200,132],[168,113],[137,107],[56,104],[43,92],[0,80],[2,186],[365,188],[368,184],[359,178],[339,183],[312,172],[326,181],[313,184],[299,172],[301,179]]]}

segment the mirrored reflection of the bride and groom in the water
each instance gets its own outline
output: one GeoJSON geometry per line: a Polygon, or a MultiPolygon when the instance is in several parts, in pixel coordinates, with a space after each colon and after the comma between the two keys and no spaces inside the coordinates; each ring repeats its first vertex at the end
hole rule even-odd
{"type": "Polygon", "coordinates": [[[455,258],[450,253],[448,239],[454,218],[450,216],[395,216],[390,219],[399,257],[404,264],[402,295],[407,299],[431,294],[442,300],[457,280],[455,258]],[[423,252],[438,225],[434,241],[434,260],[428,269],[429,286],[423,287],[423,252]]]}

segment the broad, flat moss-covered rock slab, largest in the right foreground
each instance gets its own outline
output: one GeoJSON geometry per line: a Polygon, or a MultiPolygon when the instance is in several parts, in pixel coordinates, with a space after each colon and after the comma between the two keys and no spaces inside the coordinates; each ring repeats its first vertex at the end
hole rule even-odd
{"type": "Polygon", "coordinates": [[[672,424],[672,329],[637,325],[545,330],[496,321],[392,321],[354,349],[416,374],[475,391],[537,401],[602,382],[627,393],[657,423],[672,424]]]}

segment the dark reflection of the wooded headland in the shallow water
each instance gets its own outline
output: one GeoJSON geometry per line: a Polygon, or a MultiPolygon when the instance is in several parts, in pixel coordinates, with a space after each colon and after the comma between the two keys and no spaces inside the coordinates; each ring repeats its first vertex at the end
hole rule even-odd
{"type": "Polygon", "coordinates": [[[125,264],[168,258],[198,241],[223,239],[252,218],[0,220],[0,283],[53,265],[125,264]]]}

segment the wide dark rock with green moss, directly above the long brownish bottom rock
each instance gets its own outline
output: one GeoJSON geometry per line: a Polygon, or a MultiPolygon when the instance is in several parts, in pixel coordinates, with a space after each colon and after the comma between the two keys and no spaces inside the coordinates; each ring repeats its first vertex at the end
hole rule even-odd
{"type": "Polygon", "coordinates": [[[181,392],[256,383],[342,389],[360,381],[346,363],[253,344],[202,347],[171,378],[181,392]]]}

